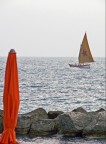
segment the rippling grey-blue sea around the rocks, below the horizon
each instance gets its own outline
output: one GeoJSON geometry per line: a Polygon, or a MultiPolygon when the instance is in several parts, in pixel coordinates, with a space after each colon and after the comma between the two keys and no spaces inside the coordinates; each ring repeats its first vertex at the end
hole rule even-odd
{"type": "MultiPolygon", "coordinates": [[[[105,58],[95,57],[90,68],[71,68],[77,58],[17,57],[20,109],[19,114],[37,108],[47,112],[71,112],[106,109],[105,58]]],[[[6,57],[0,57],[0,109],[3,109],[3,87],[6,57]]],[[[63,138],[62,136],[18,138],[24,144],[104,144],[104,139],[63,138]]]]}

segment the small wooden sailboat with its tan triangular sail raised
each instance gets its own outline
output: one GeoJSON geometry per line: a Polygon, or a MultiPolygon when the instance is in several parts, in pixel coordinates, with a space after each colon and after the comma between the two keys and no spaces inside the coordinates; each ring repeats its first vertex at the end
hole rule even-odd
{"type": "Polygon", "coordinates": [[[90,68],[91,62],[94,62],[94,59],[92,57],[88,40],[87,40],[87,34],[85,33],[83,41],[81,43],[80,51],[79,51],[79,57],[78,57],[78,64],[69,64],[70,67],[78,67],[78,68],[90,68]]]}

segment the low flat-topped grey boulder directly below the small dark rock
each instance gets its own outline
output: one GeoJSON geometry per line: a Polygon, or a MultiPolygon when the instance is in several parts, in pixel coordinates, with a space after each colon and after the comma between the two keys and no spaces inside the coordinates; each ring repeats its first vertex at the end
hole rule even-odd
{"type": "Polygon", "coordinates": [[[57,121],[51,119],[35,121],[31,125],[29,136],[34,137],[55,134],[58,129],[57,125],[57,121]]]}

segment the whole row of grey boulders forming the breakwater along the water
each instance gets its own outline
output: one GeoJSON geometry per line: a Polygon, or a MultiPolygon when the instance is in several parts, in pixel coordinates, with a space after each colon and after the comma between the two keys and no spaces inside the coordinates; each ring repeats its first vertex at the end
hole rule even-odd
{"type": "MultiPolygon", "coordinates": [[[[3,131],[3,111],[0,110],[0,133],[3,131]]],[[[61,134],[64,136],[93,136],[106,138],[106,110],[87,112],[82,107],[71,112],[46,112],[39,108],[18,116],[16,133],[30,137],[61,134]]]]}

